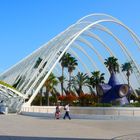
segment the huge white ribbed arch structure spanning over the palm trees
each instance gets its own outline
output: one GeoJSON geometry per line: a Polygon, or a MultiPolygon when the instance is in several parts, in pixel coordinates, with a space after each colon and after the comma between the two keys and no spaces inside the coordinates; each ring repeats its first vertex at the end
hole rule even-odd
{"type": "MultiPolygon", "coordinates": [[[[57,65],[59,65],[59,60],[67,51],[77,56],[81,61],[79,66],[81,71],[88,68],[88,72],[98,69],[106,73],[103,60],[109,56],[117,57],[122,64],[131,61],[134,66],[135,84],[137,87],[140,86],[140,62],[138,59],[140,40],[138,36],[118,19],[107,14],[98,13],[81,18],[31,55],[2,73],[0,80],[10,85],[20,80],[17,90],[24,95],[22,98],[31,95],[28,102],[26,102],[27,105],[30,105],[50,73],[57,71],[58,74],[57,69],[59,67],[57,65]],[[118,34],[119,30],[115,31],[112,26],[117,29],[120,28],[120,34],[118,34]],[[122,32],[125,32],[127,37],[121,35],[122,32]],[[128,39],[132,41],[135,47],[128,45],[128,39]],[[118,51],[114,51],[113,46],[118,51]],[[130,52],[133,52],[131,50],[135,53],[131,54],[130,52]],[[41,62],[35,68],[39,58],[41,62]],[[82,60],[85,62],[84,64],[82,60]]],[[[131,83],[134,82],[131,81],[131,83]]],[[[135,85],[131,84],[131,87],[135,88],[135,85]]]]}

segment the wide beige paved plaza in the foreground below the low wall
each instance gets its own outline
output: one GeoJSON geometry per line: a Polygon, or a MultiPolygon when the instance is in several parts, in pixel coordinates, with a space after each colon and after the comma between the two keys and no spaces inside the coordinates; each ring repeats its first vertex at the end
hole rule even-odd
{"type": "Polygon", "coordinates": [[[0,115],[0,140],[140,140],[139,120],[55,120],[0,115]]]}

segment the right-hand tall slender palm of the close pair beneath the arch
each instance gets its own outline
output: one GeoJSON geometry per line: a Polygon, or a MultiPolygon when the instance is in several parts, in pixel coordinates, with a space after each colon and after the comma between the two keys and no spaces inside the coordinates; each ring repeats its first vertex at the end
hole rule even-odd
{"type": "Polygon", "coordinates": [[[71,91],[71,76],[72,76],[72,72],[75,70],[75,68],[78,65],[78,63],[77,63],[77,60],[72,56],[68,57],[67,62],[68,62],[67,67],[68,67],[68,72],[69,72],[68,89],[69,89],[69,92],[70,92],[71,91]]]}

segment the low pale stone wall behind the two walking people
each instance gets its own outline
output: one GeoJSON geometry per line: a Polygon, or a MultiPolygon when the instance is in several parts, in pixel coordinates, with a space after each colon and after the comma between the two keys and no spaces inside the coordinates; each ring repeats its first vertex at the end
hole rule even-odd
{"type": "MultiPolygon", "coordinates": [[[[61,107],[61,114],[64,107],[61,107]]],[[[22,107],[21,113],[48,113],[54,114],[55,106],[27,106],[22,107]]],[[[70,107],[73,115],[111,115],[111,116],[136,116],[140,117],[140,108],[135,107],[70,107]]]]}

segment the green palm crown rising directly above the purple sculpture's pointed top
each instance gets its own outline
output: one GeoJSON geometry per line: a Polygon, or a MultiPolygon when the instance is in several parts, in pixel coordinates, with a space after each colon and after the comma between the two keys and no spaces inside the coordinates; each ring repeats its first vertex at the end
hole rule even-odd
{"type": "Polygon", "coordinates": [[[114,56],[108,57],[107,59],[105,59],[104,64],[108,68],[110,74],[112,74],[113,72],[115,73],[119,72],[119,64],[117,61],[118,59],[115,58],[114,56]]]}

